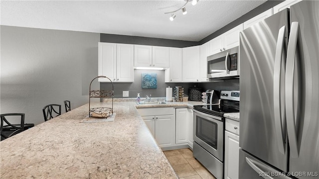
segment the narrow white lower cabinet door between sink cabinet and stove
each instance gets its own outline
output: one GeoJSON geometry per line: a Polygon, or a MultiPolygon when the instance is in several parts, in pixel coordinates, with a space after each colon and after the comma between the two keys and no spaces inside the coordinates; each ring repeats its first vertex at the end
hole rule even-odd
{"type": "Polygon", "coordinates": [[[193,109],[176,108],[175,143],[193,148],[193,109]]]}

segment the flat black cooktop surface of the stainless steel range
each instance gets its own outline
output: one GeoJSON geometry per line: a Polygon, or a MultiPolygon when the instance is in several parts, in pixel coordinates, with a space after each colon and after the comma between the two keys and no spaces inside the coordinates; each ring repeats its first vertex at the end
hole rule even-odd
{"type": "Polygon", "coordinates": [[[220,117],[223,117],[224,113],[239,112],[239,108],[237,107],[228,107],[228,106],[219,105],[219,104],[194,105],[194,109],[204,113],[217,115],[220,117]]]}

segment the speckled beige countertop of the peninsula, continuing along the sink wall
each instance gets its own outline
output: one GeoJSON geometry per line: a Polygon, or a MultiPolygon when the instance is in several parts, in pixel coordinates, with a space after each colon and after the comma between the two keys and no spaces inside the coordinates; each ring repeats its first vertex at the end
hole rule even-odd
{"type": "Polygon", "coordinates": [[[86,104],[1,141],[0,178],[176,179],[136,105],[114,102],[113,122],[80,123],[86,104]]]}

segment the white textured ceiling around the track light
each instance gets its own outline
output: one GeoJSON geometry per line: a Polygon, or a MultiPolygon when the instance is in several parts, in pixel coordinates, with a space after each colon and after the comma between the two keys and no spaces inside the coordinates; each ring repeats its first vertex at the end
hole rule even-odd
{"type": "Polygon", "coordinates": [[[199,41],[266,0],[1,0],[1,25],[199,41]]]}

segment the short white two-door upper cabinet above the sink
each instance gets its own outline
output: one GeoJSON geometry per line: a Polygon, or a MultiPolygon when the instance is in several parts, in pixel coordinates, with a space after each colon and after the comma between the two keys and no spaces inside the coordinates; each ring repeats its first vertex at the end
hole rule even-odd
{"type": "Polygon", "coordinates": [[[134,67],[169,67],[169,47],[134,45],[134,67]]]}

